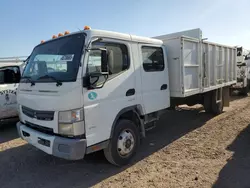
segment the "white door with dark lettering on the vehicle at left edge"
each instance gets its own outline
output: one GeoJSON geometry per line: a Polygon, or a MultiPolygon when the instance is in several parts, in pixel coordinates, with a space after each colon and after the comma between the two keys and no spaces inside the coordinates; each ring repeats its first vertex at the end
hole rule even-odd
{"type": "Polygon", "coordinates": [[[0,68],[0,119],[17,116],[16,90],[20,76],[18,66],[0,68]]]}

